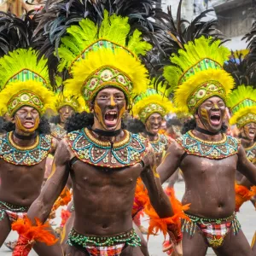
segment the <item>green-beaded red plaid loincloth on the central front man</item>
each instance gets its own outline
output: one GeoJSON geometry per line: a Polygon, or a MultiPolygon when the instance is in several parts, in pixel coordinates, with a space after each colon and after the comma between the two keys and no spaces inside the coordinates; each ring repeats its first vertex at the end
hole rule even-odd
{"type": "Polygon", "coordinates": [[[133,229],[116,236],[84,236],[72,229],[67,243],[90,256],[119,256],[127,246],[141,246],[141,239],[133,229]]]}

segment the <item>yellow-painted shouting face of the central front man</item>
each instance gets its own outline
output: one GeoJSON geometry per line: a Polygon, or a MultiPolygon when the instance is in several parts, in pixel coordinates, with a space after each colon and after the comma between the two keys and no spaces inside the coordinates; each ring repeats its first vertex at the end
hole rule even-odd
{"type": "Polygon", "coordinates": [[[100,90],[94,102],[94,127],[105,131],[119,130],[126,110],[125,94],[116,88],[100,90]]]}

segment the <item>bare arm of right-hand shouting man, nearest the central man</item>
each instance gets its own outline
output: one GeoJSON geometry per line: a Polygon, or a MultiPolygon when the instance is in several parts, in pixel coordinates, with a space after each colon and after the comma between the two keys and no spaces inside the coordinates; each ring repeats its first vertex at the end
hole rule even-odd
{"type": "Polygon", "coordinates": [[[171,144],[160,166],[157,168],[161,183],[164,183],[177,170],[184,153],[184,149],[176,141],[171,144]]]}

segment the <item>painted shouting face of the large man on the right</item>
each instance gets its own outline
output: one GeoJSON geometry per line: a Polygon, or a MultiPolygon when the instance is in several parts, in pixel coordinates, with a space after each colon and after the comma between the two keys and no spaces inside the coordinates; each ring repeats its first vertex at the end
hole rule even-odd
{"type": "Polygon", "coordinates": [[[218,132],[223,125],[224,113],[224,101],[218,96],[213,96],[198,108],[198,113],[195,114],[196,123],[202,129],[218,132]]]}

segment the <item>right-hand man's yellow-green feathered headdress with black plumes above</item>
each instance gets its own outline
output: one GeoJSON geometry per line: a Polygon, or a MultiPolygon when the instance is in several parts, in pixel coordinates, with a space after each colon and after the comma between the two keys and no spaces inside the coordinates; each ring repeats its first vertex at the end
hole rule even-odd
{"type": "Polygon", "coordinates": [[[160,86],[159,82],[167,83],[166,91],[174,95],[176,108],[193,114],[211,96],[225,100],[234,82],[223,70],[230,51],[218,39],[221,36],[214,27],[216,21],[201,21],[208,11],[191,23],[181,20],[181,4],[182,1],[177,11],[177,26],[172,15],[170,17],[166,45],[170,45],[171,58],[157,86],[160,86]],[[189,26],[183,28],[187,22],[189,26]]]}

